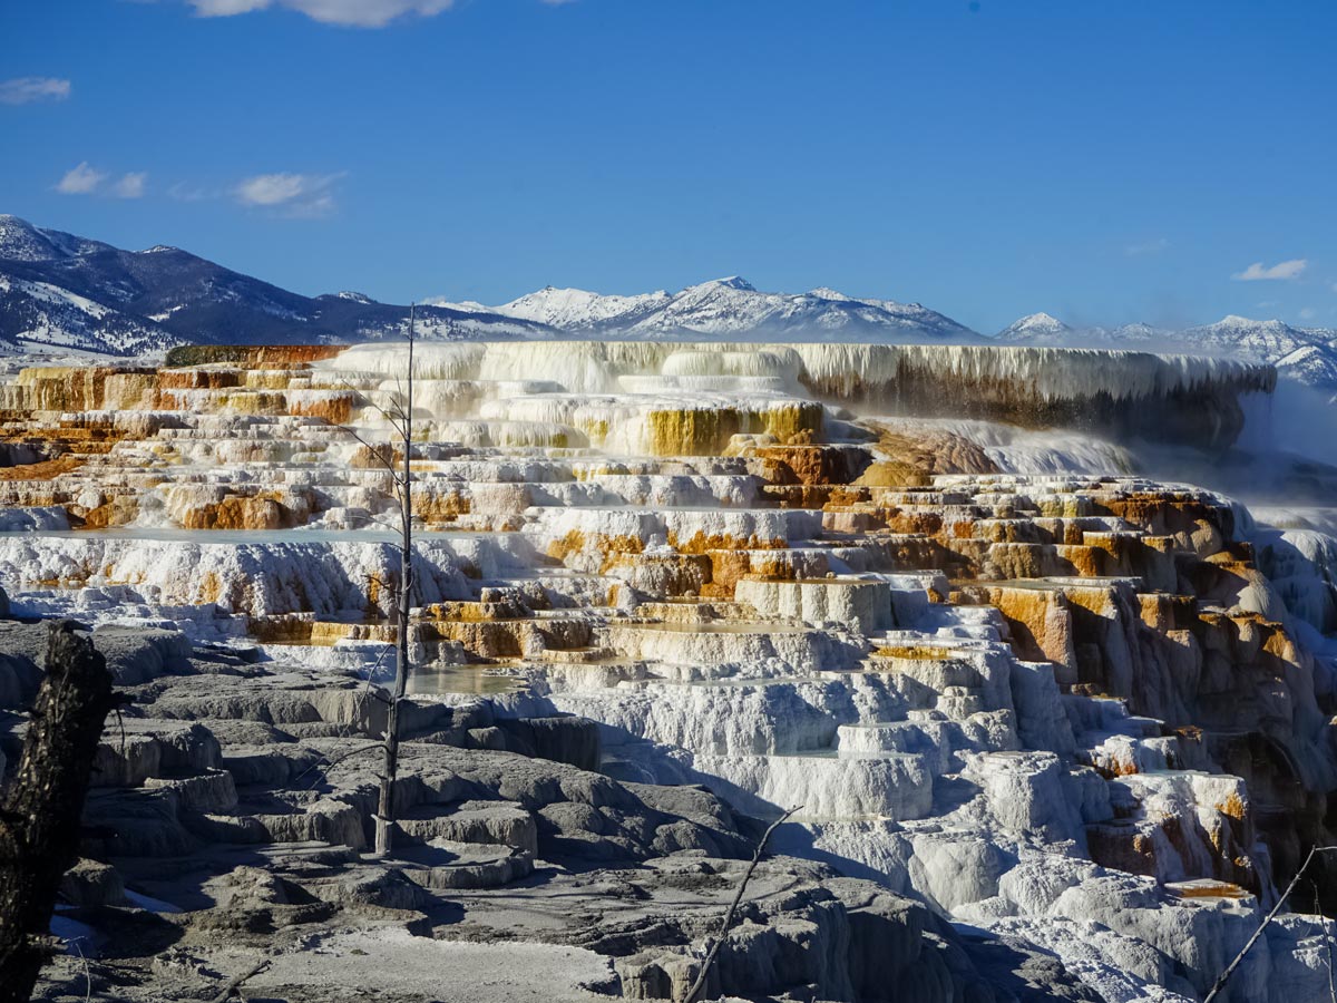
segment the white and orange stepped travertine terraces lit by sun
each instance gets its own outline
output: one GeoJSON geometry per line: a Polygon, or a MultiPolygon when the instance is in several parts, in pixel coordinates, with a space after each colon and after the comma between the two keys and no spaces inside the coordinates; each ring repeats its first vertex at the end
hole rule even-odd
{"type": "MultiPolygon", "coordinates": [[[[290,710],[294,678],[326,678],[291,713],[303,741],[333,736],[316,722],[365,715],[349,677],[384,671],[393,639],[389,480],[345,427],[386,441],[405,353],[170,361],[0,388],[0,584],[17,614],[176,631],[273,671],[195,703],[155,690],[156,717],[290,710]]],[[[484,749],[517,722],[598,722],[564,758],[607,782],[698,785],[761,820],[801,806],[778,834],[794,857],[1050,952],[1104,999],[1197,999],[1329,840],[1333,690],[1305,638],[1332,603],[1313,563],[1280,586],[1258,570],[1247,512],[1140,479],[1128,449],[1227,444],[1271,382],[1054,349],[420,345],[414,689],[484,749]],[[1055,424],[1078,460],[1005,448],[1055,424]]],[[[259,723],[215,732],[223,758],[191,776],[286,782],[251,762],[259,723]]],[[[186,781],[123,786],[154,782],[186,781]]],[[[365,845],[354,781],[286,826],[241,821],[262,813],[229,790],[213,840],[365,845]]],[[[516,800],[489,839],[528,861],[539,809],[516,800]]],[[[408,825],[459,834],[453,817],[408,825]]],[[[532,864],[479,867],[505,884],[532,864]]],[[[686,948],[654,950],[610,986],[681,988],[686,948]]],[[[1285,917],[1227,996],[1326,992],[1324,950],[1317,919],[1285,917]]]]}

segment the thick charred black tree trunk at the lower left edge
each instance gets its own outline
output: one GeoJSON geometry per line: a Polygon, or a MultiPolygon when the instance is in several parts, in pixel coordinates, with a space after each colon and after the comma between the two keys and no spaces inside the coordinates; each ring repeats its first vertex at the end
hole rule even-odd
{"type": "Polygon", "coordinates": [[[60,879],[79,856],[79,818],[107,714],[111,673],[70,621],[51,625],[47,674],[0,809],[0,1003],[27,1003],[45,962],[60,879]]]}

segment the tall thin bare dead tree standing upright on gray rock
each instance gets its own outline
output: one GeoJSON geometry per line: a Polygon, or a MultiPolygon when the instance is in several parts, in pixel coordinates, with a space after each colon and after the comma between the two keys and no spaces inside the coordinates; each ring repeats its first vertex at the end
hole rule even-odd
{"type": "MultiPolygon", "coordinates": [[[[405,403],[398,411],[404,445],[404,471],[394,477],[400,502],[400,580],[394,590],[394,687],[385,719],[385,756],[381,761],[381,790],[376,805],[376,855],[386,856],[394,843],[394,785],[400,776],[400,705],[408,693],[409,612],[413,608],[413,308],[409,308],[409,365],[405,403]]],[[[393,473],[393,469],[392,469],[393,473]]]]}

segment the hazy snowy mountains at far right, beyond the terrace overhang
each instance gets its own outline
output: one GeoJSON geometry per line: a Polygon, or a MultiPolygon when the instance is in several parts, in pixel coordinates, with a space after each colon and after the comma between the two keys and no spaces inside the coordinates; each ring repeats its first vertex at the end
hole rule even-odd
{"type": "Polygon", "coordinates": [[[1282,321],[1235,316],[1182,330],[1162,330],[1147,324],[1071,328],[1050,314],[1036,313],[995,337],[1011,344],[1127,348],[1271,362],[1286,378],[1337,393],[1337,330],[1328,328],[1292,328],[1282,321]]]}

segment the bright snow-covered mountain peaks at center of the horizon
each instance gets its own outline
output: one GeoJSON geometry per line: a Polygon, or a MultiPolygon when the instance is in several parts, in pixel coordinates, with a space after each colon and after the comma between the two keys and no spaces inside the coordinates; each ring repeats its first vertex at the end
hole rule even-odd
{"type": "MultiPolygon", "coordinates": [[[[464,304],[455,304],[464,306],[464,304]]],[[[476,304],[468,304],[476,306],[476,304]]],[[[640,296],[540,289],[493,313],[567,334],[602,337],[773,337],[805,341],[979,341],[980,336],[919,304],[861,300],[832,289],[763,293],[737,275],[640,296]]]]}

